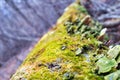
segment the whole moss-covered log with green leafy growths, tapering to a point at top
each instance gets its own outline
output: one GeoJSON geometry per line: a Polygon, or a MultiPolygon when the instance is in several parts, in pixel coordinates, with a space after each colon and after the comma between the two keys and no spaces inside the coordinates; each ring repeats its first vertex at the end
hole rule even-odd
{"type": "Polygon", "coordinates": [[[79,3],[71,4],[11,80],[117,80],[118,63],[102,42],[105,31],[79,3]],[[112,72],[117,79],[109,79],[112,72]]]}

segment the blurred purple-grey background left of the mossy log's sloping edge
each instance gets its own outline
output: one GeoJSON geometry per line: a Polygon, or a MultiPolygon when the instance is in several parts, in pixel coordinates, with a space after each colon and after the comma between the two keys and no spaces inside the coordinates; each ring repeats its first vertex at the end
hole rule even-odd
{"type": "Polygon", "coordinates": [[[73,1],[0,0],[0,80],[9,78],[29,52],[30,46],[73,1]]]}

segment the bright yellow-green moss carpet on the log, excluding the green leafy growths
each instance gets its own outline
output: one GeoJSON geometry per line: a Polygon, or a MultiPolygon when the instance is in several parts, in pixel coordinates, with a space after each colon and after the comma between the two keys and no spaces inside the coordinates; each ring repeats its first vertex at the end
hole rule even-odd
{"type": "MultiPolygon", "coordinates": [[[[82,38],[82,34],[68,34],[64,23],[83,20],[85,9],[77,3],[70,5],[57,24],[45,34],[28,55],[11,80],[102,80],[95,74],[95,59],[101,41],[97,37],[82,38]],[[87,46],[87,47],[86,47],[87,46]],[[83,49],[76,56],[77,49],[83,49]],[[65,77],[67,76],[67,78],[65,77]]],[[[91,19],[90,19],[91,20],[91,19]]],[[[92,21],[92,20],[91,20],[92,21]]],[[[84,23],[83,23],[84,24],[84,23]]],[[[94,26],[91,22],[88,26],[94,26]]]]}

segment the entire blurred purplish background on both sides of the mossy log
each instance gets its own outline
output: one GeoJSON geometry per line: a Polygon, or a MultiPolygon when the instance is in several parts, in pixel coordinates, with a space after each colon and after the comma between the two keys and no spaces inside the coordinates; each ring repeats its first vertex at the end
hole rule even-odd
{"type": "MultiPolygon", "coordinates": [[[[0,0],[0,80],[9,80],[30,50],[75,0],[0,0]]],[[[120,0],[78,0],[120,44],[120,0]]]]}

